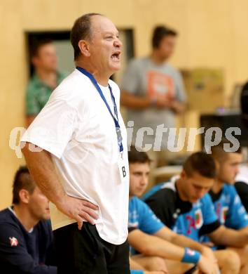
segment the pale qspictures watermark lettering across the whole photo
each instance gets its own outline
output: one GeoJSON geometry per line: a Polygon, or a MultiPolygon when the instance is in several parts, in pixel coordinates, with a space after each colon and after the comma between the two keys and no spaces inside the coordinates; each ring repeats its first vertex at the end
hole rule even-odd
{"type": "MultiPolygon", "coordinates": [[[[15,127],[9,138],[9,146],[15,151],[15,155],[18,158],[22,158],[22,148],[25,147],[25,142],[20,142],[23,134],[25,134],[27,129],[25,127],[15,127]]],[[[229,127],[226,131],[223,131],[219,127],[210,127],[205,129],[205,127],[200,128],[167,128],[165,124],[160,124],[156,127],[156,130],[149,126],[141,127],[134,133],[134,122],[129,121],[127,125],[128,132],[128,149],[130,150],[131,143],[135,145],[137,150],[142,151],[160,151],[164,148],[170,152],[180,152],[181,150],[186,150],[187,152],[193,152],[195,148],[195,142],[197,136],[201,136],[203,140],[202,147],[207,153],[211,153],[211,148],[214,145],[218,145],[221,142],[221,138],[225,137],[230,143],[224,144],[223,149],[227,152],[235,152],[240,148],[240,142],[235,136],[241,135],[241,129],[239,127],[229,127]],[[144,137],[151,136],[154,140],[153,143],[145,143],[144,137]]],[[[42,127],[32,127],[29,128],[29,136],[34,133],[35,136],[46,136],[46,138],[52,138],[50,133],[46,128],[42,127]]],[[[61,142],[64,137],[64,132],[60,131],[60,126],[57,127],[56,131],[53,131],[53,142],[61,142]]],[[[89,138],[92,138],[89,136],[89,138]]],[[[46,139],[45,139],[46,140],[46,139]]],[[[71,142],[73,144],[69,145],[70,149],[74,149],[78,142],[71,142]]],[[[39,152],[42,149],[36,145],[29,143],[29,150],[32,152],[39,152]]],[[[76,161],[82,159],[69,159],[70,161],[76,161]]]]}

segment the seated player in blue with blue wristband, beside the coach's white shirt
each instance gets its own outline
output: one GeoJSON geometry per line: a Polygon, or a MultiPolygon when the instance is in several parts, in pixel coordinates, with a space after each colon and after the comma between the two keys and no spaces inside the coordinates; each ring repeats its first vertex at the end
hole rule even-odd
{"type": "Polygon", "coordinates": [[[132,261],[139,263],[146,270],[163,270],[165,273],[167,269],[169,273],[185,273],[195,268],[194,264],[198,264],[202,273],[219,273],[211,249],[174,233],[142,200],[139,200],[138,197],[144,193],[148,185],[150,159],[146,152],[138,152],[135,147],[131,147],[128,160],[130,167],[128,242],[140,253],[133,255],[132,261]]]}

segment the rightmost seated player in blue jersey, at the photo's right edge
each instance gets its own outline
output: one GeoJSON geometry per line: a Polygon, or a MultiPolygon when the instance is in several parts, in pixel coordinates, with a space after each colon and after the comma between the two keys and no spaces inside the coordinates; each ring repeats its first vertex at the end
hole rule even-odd
{"type": "MultiPolygon", "coordinates": [[[[219,145],[212,147],[212,157],[216,163],[217,176],[209,195],[222,225],[235,230],[248,231],[247,211],[244,209],[234,186],[235,177],[242,162],[242,154],[240,149],[231,152],[227,146],[231,146],[230,141],[223,139],[219,145]]],[[[208,239],[204,240],[208,241],[208,239]]],[[[248,273],[248,247],[235,248],[235,251],[240,255],[240,273],[248,273]]]]}

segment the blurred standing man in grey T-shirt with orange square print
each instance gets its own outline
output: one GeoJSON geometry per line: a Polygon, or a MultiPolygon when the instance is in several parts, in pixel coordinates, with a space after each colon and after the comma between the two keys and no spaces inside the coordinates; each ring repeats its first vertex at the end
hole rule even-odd
{"type": "MultiPolygon", "coordinates": [[[[158,153],[149,152],[156,164],[170,157],[167,151],[167,136],[171,127],[175,126],[175,114],[184,112],[186,94],[181,74],[167,63],[174,53],[177,32],[165,26],[158,26],[153,31],[151,55],[132,60],[125,70],[121,82],[121,104],[128,108],[128,121],[134,121],[132,143],[136,142],[137,131],[145,126],[153,129],[153,134],[144,134],[145,144],[155,141],[157,126],[168,128],[163,133],[158,153]],[[163,151],[161,153],[160,151],[163,151]]],[[[138,134],[137,138],[140,134],[138,134]]],[[[161,136],[162,137],[162,136],[161,136]]],[[[141,146],[141,145],[140,145],[141,146]]]]}

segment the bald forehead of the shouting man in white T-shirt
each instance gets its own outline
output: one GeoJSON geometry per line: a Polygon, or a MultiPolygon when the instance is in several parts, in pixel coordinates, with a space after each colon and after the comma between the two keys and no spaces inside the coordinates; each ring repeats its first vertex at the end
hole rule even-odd
{"type": "Polygon", "coordinates": [[[118,30],[116,29],[116,26],[113,24],[109,18],[106,18],[102,15],[94,15],[91,18],[91,31],[92,36],[94,34],[105,34],[108,32],[111,33],[118,33],[118,30]]]}

